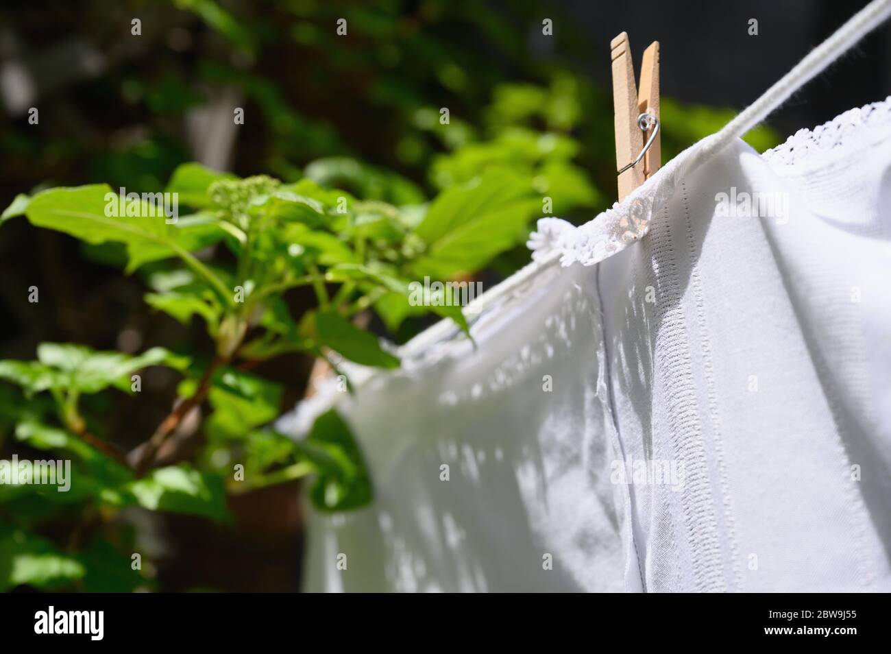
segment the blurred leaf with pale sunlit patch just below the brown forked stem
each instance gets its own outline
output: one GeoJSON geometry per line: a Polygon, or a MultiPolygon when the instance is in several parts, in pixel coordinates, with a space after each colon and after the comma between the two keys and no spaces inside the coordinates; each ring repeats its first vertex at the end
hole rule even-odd
{"type": "Polygon", "coordinates": [[[188,513],[219,521],[230,519],[223,479],[186,464],[151,470],[146,477],[130,482],[126,489],[140,506],[150,511],[188,513]]]}

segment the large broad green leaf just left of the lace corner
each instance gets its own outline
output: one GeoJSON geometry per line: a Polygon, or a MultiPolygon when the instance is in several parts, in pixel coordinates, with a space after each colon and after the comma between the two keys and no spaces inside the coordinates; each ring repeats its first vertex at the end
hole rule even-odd
{"type": "Polygon", "coordinates": [[[540,200],[522,176],[493,171],[474,184],[448,189],[415,230],[428,248],[413,270],[441,279],[478,270],[525,237],[536,211],[540,200]]]}

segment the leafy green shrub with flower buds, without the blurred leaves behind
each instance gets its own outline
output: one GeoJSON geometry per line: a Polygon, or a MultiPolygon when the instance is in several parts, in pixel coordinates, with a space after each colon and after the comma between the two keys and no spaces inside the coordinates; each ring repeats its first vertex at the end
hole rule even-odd
{"type": "MultiPolygon", "coordinates": [[[[321,178],[323,169],[320,163],[308,172],[321,178]]],[[[370,174],[349,166],[340,172],[354,186],[356,176],[370,174]]],[[[375,179],[388,196],[399,196],[398,185],[403,198],[421,200],[405,191],[401,178],[375,179]]],[[[0,574],[6,585],[90,585],[88,577],[101,574],[90,568],[94,552],[127,551],[112,519],[129,506],[225,521],[227,490],[307,475],[315,476],[309,496],[320,510],[371,501],[372,480],[347,423],[330,411],[303,440],[284,437],[268,426],[281,412],[282,389],[250,369],[303,352],[342,374],[347,388],[342,360],[399,365],[392,348],[360,326],[364,316],[376,314],[395,330],[410,315],[433,313],[468,332],[447,290],[415,306],[411,282],[486,266],[524,239],[530,218],[541,212],[531,178],[501,168],[453,185],[429,203],[403,206],[359,200],[309,177],[292,184],[268,176],[239,179],[197,164],[177,168],[165,192],[193,213],[161,212],[152,202],[162,196],[127,199],[105,184],[20,195],[4,212],[4,221],[24,215],[32,225],[92,246],[122,246],[126,272],[146,284],[144,301],[181,323],[200,321],[213,344],[212,356],[202,357],[198,347],[176,353],[152,347],[130,356],[44,343],[35,361],[0,362],[0,379],[12,383],[0,387],[0,429],[6,424],[15,443],[75,466],[69,493],[0,486],[12,517],[0,533],[0,560],[12,561],[7,576],[0,574]],[[315,307],[295,316],[285,295],[298,287],[313,290],[315,307]],[[103,425],[103,398],[138,394],[147,366],[182,376],[178,399],[143,444],[124,453],[103,425]],[[187,437],[166,457],[179,462],[159,466],[159,452],[201,405],[210,411],[191,438],[202,435],[203,446],[182,454],[187,437]],[[37,535],[61,511],[77,516],[75,531],[89,535],[88,542],[60,550],[37,535]]],[[[125,581],[143,583],[138,574],[102,583],[125,581]]]]}

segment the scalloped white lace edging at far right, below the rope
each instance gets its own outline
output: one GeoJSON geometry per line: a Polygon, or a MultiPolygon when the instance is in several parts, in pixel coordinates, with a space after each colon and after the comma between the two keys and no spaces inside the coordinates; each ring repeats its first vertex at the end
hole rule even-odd
{"type": "Polygon", "coordinates": [[[885,100],[847,110],[813,129],[799,129],[785,143],[765,151],[762,157],[771,166],[791,166],[822,154],[837,154],[862,138],[874,138],[878,127],[891,126],[891,95],[885,100]]]}

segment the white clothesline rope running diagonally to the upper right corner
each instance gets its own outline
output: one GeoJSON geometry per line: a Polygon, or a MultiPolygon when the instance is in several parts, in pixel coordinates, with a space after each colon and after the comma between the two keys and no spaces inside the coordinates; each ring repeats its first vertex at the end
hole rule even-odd
{"type": "MultiPolygon", "coordinates": [[[[700,141],[700,147],[693,148],[689,159],[683,162],[683,170],[689,173],[693,168],[713,157],[723,147],[746,135],[748,130],[766,119],[792,94],[819,75],[833,61],[838,60],[862,37],[879,27],[889,16],[891,16],[891,0],[873,0],[867,4],[720,131],[700,141]]],[[[495,307],[511,293],[534,280],[544,270],[557,265],[559,261],[560,252],[552,251],[546,258],[532,262],[474,299],[468,307],[469,311],[465,313],[478,314],[488,308],[495,307]]],[[[417,356],[437,342],[450,338],[456,332],[457,329],[453,323],[446,320],[440,321],[400,347],[400,354],[402,356],[417,356]]]]}

